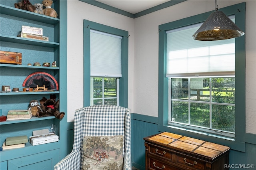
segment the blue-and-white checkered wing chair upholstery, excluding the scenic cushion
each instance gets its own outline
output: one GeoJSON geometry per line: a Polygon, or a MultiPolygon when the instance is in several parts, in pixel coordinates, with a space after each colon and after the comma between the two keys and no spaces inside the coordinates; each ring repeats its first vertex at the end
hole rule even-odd
{"type": "Polygon", "coordinates": [[[54,170],[82,169],[84,136],[124,135],[124,170],[131,170],[130,109],[114,105],[94,105],[77,109],[74,115],[74,144],[68,156],[54,170]]]}

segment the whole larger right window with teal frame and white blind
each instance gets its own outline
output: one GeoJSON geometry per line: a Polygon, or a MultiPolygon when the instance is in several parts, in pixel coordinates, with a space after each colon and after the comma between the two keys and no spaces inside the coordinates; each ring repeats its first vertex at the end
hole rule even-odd
{"type": "MultiPolygon", "coordinates": [[[[245,3],[221,10],[245,30],[245,3]]],[[[158,131],[244,151],[245,36],[193,40],[211,13],[159,26],[158,131]]]]}

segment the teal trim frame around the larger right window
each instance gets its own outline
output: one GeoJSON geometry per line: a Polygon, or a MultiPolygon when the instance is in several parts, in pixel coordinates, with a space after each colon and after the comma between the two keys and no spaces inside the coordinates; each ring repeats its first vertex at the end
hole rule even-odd
{"type": "MultiPolygon", "coordinates": [[[[227,16],[235,15],[236,25],[245,31],[245,2],[219,9],[227,16]]],[[[158,63],[158,131],[174,132],[210,142],[230,146],[231,149],[245,152],[245,35],[236,38],[236,136],[234,139],[168,125],[168,78],[166,77],[166,31],[191,24],[204,22],[214,11],[198,14],[159,26],[158,63]]],[[[192,36],[192,35],[191,35],[192,36]]],[[[196,41],[196,40],[195,40],[196,41]]]]}

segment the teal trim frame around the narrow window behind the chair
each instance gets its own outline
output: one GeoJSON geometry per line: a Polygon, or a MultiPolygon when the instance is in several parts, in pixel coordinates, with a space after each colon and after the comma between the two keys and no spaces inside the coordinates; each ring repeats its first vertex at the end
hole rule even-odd
{"type": "Polygon", "coordinates": [[[128,108],[128,31],[84,20],[84,107],[90,106],[90,29],[122,36],[122,77],[119,105],[128,108]]]}

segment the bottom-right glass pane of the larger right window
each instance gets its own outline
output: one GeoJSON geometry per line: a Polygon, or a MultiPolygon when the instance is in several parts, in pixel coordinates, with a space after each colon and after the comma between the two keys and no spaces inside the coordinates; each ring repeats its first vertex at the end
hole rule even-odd
{"type": "Polygon", "coordinates": [[[212,128],[235,132],[235,107],[212,105],[212,128]]]}

